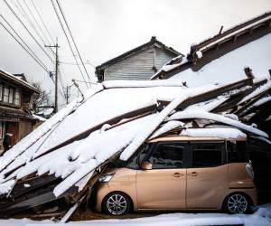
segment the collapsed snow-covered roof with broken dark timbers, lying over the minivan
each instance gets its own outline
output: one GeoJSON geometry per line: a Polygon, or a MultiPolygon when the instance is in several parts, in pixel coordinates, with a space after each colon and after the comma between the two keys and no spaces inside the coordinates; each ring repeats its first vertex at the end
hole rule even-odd
{"type": "MultiPolygon", "coordinates": [[[[79,200],[98,168],[118,157],[126,161],[146,140],[176,131],[199,137],[205,128],[210,137],[247,134],[269,142],[251,126],[257,120],[249,120],[270,101],[270,88],[265,78],[193,89],[173,80],[98,84],[0,157],[0,193],[12,200],[4,198],[2,208],[7,214],[75,194],[79,200]],[[242,109],[248,105],[251,110],[242,109]]],[[[260,122],[270,120],[270,107],[267,112],[260,122]]]]}

